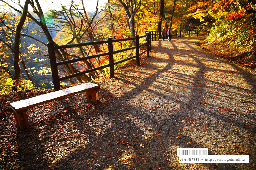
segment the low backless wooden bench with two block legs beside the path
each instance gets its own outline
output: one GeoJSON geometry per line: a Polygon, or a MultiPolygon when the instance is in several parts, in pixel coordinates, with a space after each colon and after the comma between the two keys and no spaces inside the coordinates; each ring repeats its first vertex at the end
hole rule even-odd
{"type": "Polygon", "coordinates": [[[82,85],[76,85],[59,91],[43,94],[40,96],[32,97],[25,100],[16,101],[10,103],[12,108],[16,126],[20,127],[21,130],[29,129],[27,110],[30,107],[38,106],[53,100],[61,99],[76,93],[85,92],[87,101],[96,103],[99,101],[99,89],[100,85],[94,83],[85,83],[82,85]]]}

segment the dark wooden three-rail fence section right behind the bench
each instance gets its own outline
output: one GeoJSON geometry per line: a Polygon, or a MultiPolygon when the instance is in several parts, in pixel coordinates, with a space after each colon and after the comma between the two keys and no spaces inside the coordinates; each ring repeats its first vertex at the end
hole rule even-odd
{"type": "Polygon", "coordinates": [[[147,52],[147,57],[149,57],[150,43],[151,43],[150,37],[151,37],[150,33],[147,33],[144,36],[136,35],[135,38],[124,38],[124,39],[113,40],[113,38],[110,37],[106,41],[84,42],[84,43],[68,44],[68,45],[60,45],[60,46],[54,46],[54,43],[48,43],[47,47],[48,47],[49,58],[50,58],[51,69],[52,69],[52,81],[53,81],[54,90],[55,91],[60,90],[60,81],[62,81],[62,80],[66,80],[68,78],[72,78],[72,77],[76,77],[76,76],[79,76],[79,75],[82,75],[82,74],[90,73],[92,71],[100,70],[100,69],[103,69],[103,68],[106,68],[106,67],[109,67],[110,77],[111,78],[115,77],[114,65],[119,64],[119,63],[123,63],[123,62],[131,60],[133,58],[136,58],[136,64],[140,65],[140,55],[147,52]],[[139,39],[144,38],[144,37],[146,37],[145,43],[139,44],[139,39]],[[131,48],[125,48],[125,49],[113,51],[113,42],[120,42],[120,41],[127,41],[127,40],[135,40],[135,46],[131,47],[131,48]],[[60,62],[56,61],[55,50],[65,49],[65,48],[82,47],[82,46],[88,46],[88,45],[94,45],[94,44],[104,44],[104,43],[108,43],[108,52],[107,53],[91,55],[91,56],[86,56],[86,57],[80,57],[80,58],[75,58],[75,59],[70,59],[70,60],[65,60],[65,61],[60,61],[60,62]],[[144,46],[144,45],[147,45],[147,49],[140,53],[140,47],[144,46]],[[127,51],[127,50],[132,50],[132,49],[136,49],[136,55],[134,55],[132,57],[129,57],[129,58],[126,58],[126,59],[123,59],[123,60],[120,60],[120,61],[114,62],[113,54],[124,52],[124,51],[127,51]],[[57,68],[57,66],[59,66],[59,65],[74,63],[74,62],[87,60],[87,59],[92,59],[92,58],[101,57],[101,56],[106,56],[106,55],[109,56],[109,64],[99,66],[99,67],[96,67],[96,68],[92,68],[92,69],[89,69],[89,70],[85,70],[85,71],[80,71],[80,72],[73,73],[73,74],[70,74],[70,75],[63,76],[63,77],[59,78],[58,68],[57,68]]]}

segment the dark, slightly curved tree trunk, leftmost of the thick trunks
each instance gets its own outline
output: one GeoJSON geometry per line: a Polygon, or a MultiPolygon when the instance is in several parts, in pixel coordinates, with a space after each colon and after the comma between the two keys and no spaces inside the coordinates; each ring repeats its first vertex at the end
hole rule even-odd
{"type": "Polygon", "coordinates": [[[23,24],[26,20],[27,17],[27,12],[28,12],[28,4],[30,1],[26,1],[23,9],[23,13],[21,15],[20,21],[17,25],[16,28],[16,33],[15,33],[15,40],[14,40],[14,46],[13,46],[13,52],[14,52],[14,82],[12,86],[12,91],[17,92],[18,88],[18,82],[20,78],[20,66],[19,66],[19,51],[20,51],[20,34],[21,34],[21,29],[23,27],[23,24]]]}

